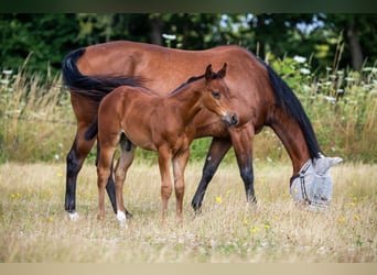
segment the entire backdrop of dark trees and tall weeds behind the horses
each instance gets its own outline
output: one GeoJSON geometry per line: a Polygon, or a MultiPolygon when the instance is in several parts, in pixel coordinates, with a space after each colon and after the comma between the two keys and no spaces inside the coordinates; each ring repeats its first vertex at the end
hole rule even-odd
{"type": "MultiPolygon", "coordinates": [[[[61,90],[64,55],[88,44],[132,40],[186,50],[220,44],[251,50],[294,90],[325,153],[376,162],[376,22],[375,14],[324,13],[0,14],[0,69],[6,72],[0,161],[64,158],[75,134],[68,94],[61,90]],[[357,35],[365,58],[356,70],[349,33],[357,35]]],[[[209,143],[194,141],[191,160],[204,161],[209,143]]],[[[137,154],[157,161],[154,153],[137,154]]],[[[89,156],[95,158],[95,150],[89,156]]],[[[287,157],[271,130],[257,135],[256,160],[287,157]]],[[[231,151],[227,160],[234,160],[231,151]]]]}

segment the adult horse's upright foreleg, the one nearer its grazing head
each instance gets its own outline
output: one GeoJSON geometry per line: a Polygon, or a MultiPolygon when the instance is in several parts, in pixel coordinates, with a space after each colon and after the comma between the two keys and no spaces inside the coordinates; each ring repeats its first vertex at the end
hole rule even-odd
{"type": "Polygon", "coordinates": [[[252,142],[255,130],[251,123],[241,129],[229,129],[231,145],[236,153],[240,176],[244,180],[246,200],[256,204],[252,170],[252,142]]]}

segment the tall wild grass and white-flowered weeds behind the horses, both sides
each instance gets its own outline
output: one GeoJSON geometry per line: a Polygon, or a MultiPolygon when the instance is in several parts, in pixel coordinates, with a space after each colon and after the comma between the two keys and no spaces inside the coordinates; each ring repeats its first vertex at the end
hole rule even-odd
{"type": "MultiPolygon", "coordinates": [[[[377,67],[313,72],[310,59],[299,56],[270,58],[270,65],[299,97],[325,154],[377,162],[377,67]]],[[[1,72],[0,162],[64,161],[76,132],[69,94],[60,76],[42,80],[24,67],[17,74],[1,72]]],[[[211,138],[195,140],[191,162],[204,162],[209,144],[211,138]]],[[[268,128],[256,136],[254,147],[255,161],[289,161],[268,128]]],[[[234,158],[230,150],[225,162],[234,158]]],[[[138,150],[137,160],[154,164],[157,154],[138,150]]]]}

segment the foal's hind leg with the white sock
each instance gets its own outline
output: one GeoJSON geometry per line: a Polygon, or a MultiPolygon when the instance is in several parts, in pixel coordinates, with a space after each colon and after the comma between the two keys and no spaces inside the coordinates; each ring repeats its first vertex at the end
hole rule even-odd
{"type": "Polygon", "coordinates": [[[126,226],[127,210],[123,207],[123,184],[127,176],[128,168],[132,164],[134,157],[134,146],[122,136],[120,140],[120,156],[115,168],[115,179],[116,179],[116,197],[117,197],[117,219],[120,226],[126,226]],[[126,211],[126,212],[125,212],[126,211]]]}

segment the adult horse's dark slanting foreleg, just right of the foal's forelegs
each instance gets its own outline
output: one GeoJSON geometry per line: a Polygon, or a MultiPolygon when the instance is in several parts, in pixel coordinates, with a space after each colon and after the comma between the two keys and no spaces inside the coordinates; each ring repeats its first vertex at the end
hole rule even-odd
{"type": "Polygon", "coordinates": [[[229,151],[231,143],[229,140],[214,138],[212,140],[207,157],[203,167],[202,178],[197,186],[196,193],[191,202],[195,212],[198,212],[202,207],[205,191],[213,178],[218,165],[223,161],[225,154],[229,151]]]}

